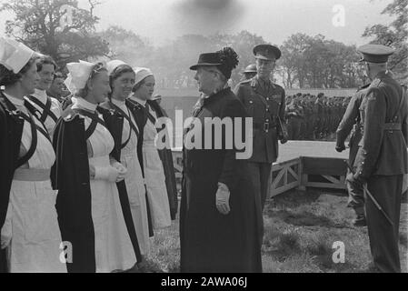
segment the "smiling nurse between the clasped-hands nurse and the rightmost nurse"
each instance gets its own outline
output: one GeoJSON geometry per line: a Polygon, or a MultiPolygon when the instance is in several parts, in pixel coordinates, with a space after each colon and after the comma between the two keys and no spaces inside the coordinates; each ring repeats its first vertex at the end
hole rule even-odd
{"type": "MultiPolygon", "coordinates": [[[[117,183],[121,201],[127,200],[130,220],[137,234],[140,251],[149,253],[149,222],[146,206],[146,189],[142,172],[142,144],[146,116],[142,105],[134,105],[128,96],[134,86],[134,70],[119,60],[106,64],[112,88],[109,100],[100,105],[104,121],[114,136],[112,156],[127,168],[124,181],[117,183]]],[[[124,209],[124,203],[122,208],[124,209]]]]}

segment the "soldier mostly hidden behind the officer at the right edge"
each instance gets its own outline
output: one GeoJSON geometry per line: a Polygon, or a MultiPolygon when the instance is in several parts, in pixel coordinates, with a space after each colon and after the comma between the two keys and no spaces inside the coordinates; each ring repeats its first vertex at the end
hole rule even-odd
{"type": "MultiPolygon", "coordinates": [[[[336,131],[336,146],[335,149],[337,152],[341,153],[345,150],[344,142],[347,136],[352,133],[350,136],[350,152],[349,152],[349,164],[353,165],[355,160],[355,155],[357,155],[358,145],[362,139],[361,131],[361,120],[359,114],[359,108],[362,104],[364,95],[367,93],[368,86],[363,85],[358,89],[355,95],[353,95],[352,100],[350,101],[343,119],[340,122],[339,127],[336,131]]],[[[347,175],[350,175],[350,170],[348,169],[347,175]]],[[[353,184],[346,182],[347,191],[349,194],[348,207],[353,208],[355,212],[355,219],[353,220],[354,226],[367,226],[365,222],[364,215],[364,195],[363,188],[359,186],[354,186],[353,184]]]]}

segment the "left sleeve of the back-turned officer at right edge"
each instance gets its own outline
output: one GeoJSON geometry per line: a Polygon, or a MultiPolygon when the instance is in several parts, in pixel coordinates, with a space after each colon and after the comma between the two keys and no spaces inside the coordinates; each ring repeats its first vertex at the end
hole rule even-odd
{"type": "Polygon", "coordinates": [[[373,89],[366,96],[364,108],[363,148],[357,157],[356,178],[371,176],[380,154],[385,124],[385,97],[378,89],[373,89]]]}

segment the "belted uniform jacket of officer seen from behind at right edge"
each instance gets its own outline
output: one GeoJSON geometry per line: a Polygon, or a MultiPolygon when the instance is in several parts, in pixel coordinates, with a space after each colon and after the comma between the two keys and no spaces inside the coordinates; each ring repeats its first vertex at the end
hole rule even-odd
{"type": "Polygon", "coordinates": [[[408,105],[403,87],[382,72],[368,87],[359,109],[363,139],[354,162],[355,178],[408,173],[408,105]]]}

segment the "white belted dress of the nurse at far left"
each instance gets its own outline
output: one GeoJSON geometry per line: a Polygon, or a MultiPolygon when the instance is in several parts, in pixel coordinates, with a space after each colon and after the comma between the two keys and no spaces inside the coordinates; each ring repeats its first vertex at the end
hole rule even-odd
{"type": "MultiPolygon", "coordinates": [[[[18,110],[28,115],[23,100],[10,95],[6,97],[18,110]]],[[[32,118],[46,134],[44,125],[37,118],[32,118]]],[[[62,256],[64,246],[55,210],[57,192],[50,181],[55,151],[43,133],[36,129],[34,155],[15,170],[5,225],[1,231],[2,245],[8,245],[9,271],[13,273],[66,273],[62,256]]],[[[27,153],[32,141],[32,128],[25,120],[20,156],[27,153]]]]}

